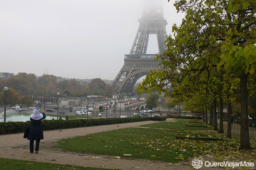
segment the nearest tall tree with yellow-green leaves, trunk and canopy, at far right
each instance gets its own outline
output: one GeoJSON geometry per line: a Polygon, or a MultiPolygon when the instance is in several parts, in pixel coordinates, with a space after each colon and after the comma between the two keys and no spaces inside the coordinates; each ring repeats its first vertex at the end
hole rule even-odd
{"type": "Polygon", "coordinates": [[[155,89],[167,94],[164,86],[168,83],[183,89],[189,80],[200,77],[210,67],[224,68],[226,74],[236,71],[240,78],[242,117],[239,149],[250,149],[247,78],[254,73],[256,63],[254,0],[177,0],[175,6],[186,16],[179,27],[172,27],[175,38],[167,38],[167,50],[156,58],[162,59],[163,69],[149,73],[138,90],[155,89]],[[211,55],[214,48],[220,53],[211,55]]]}

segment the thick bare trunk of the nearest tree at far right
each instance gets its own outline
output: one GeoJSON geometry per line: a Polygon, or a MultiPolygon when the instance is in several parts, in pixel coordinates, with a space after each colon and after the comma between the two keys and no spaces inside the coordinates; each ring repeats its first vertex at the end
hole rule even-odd
{"type": "Polygon", "coordinates": [[[240,96],[241,96],[241,124],[240,124],[240,146],[241,149],[251,149],[248,124],[248,89],[247,75],[244,71],[240,74],[240,96]]]}

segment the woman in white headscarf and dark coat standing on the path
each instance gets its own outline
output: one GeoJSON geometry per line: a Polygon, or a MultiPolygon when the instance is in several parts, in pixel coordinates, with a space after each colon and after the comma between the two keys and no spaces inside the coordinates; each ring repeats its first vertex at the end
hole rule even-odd
{"type": "Polygon", "coordinates": [[[34,140],[36,141],[35,152],[38,153],[40,140],[44,139],[41,120],[45,119],[46,115],[44,111],[41,111],[41,113],[43,115],[40,114],[38,109],[34,109],[33,114],[30,115],[31,123],[29,127],[28,138],[27,138],[30,141],[29,142],[30,153],[34,152],[34,140]]]}

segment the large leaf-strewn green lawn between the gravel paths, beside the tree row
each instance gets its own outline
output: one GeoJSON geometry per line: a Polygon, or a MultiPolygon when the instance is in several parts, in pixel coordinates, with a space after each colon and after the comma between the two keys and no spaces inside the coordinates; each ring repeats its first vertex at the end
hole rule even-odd
{"type": "Polygon", "coordinates": [[[198,155],[227,156],[236,151],[238,138],[226,138],[200,121],[177,119],[177,122],[156,122],[144,128],[119,129],[97,134],[63,139],[58,147],[64,150],[109,154],[178,163],[198,155]],[[148,127],[148,128],[146,128],[148,127]],[[175,137],[222,138],[224,141],[175,139],[175,137]]]}

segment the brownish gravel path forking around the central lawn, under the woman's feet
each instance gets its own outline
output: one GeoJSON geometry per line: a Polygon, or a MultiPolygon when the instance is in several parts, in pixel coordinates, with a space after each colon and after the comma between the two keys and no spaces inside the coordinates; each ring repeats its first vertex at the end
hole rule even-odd
{"type": "MultiPolygon", "coordinates": [[[[167,119],[166,121],[175,121],[167,119]]],[[[31,160],[37,162],[49,162],[57,164],[69,164],[84,167],[118,168],[122,170],[161,170],[161,169],[195,169],[192,167],[192,159],[187,159],[179,164],[170,164],[148,159],[120,158],[113,155],[88,154],[81,152],[63,151],[58,148],[50,148],[54,141],[59,139],[84,136],[109,130],[137,127],[143,124],[155,123],[155,121],[132,122],[114,125],[103,125],[95,127],[74,128],[44,131],[44,139],[41,140],[39,153],[29,152],[29,141],[23,138],[23,134],[2,135],[0,137],[0,158],[31,160]]],[[[233,129],[232,129],[233,130],[233,129]]],[[[239,129],[234,129],[240,133],[239,129]]],[[[256,131],[254,130],[253,133],[256,131]]],[[[203,160],[218,162],[213,157],[203,157],[203,160]]],[[[255,162],[256,164],[256,162],[255,162]]],[[[254,166],[255,167],[255,166],[254,166]]],[[[200,169],[222,169],[202,167],[200,169]]],[[[230,168],[229,168],[230,169],[230,168]]],[[[236,169],[236,168],[234,168],[236,169]]],[[[238,168],[241,169],[241,168],[238,168]]],[[[251,168],[252,169],[252,168],[251,168]]]]}

